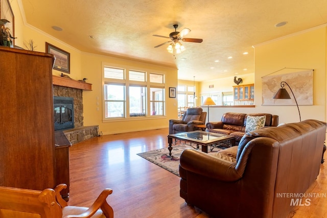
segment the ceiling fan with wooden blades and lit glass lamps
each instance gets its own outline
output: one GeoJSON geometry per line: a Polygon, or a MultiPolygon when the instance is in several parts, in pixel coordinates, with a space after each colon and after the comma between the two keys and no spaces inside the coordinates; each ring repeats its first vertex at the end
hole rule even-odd
{"type": "Polygon", "coordinates": [[[191,30],[188,29],[188,28],[184,28],[180,32],[177,32],[176,29],[178,28],[178,25],[175,24],[175,25],[173,25],[173,27],[175,28],[175,32],[170,33],[169,37],[168,36],[153,35],[153,36],[156,36],[156,37],[171,39],[170,41],[158,44],[158,45],[156,45],[154,47],[159,47],[161,45],[170,43],[170,45],[168,45],[168,47],[167,47],[168,52],[178,54],[178,53],[182,52],[183,50],[185,50],[185,47],[179,42],[179,40],[181,40],[183,42],[197,42],[197,43],[201,43],[203,41],[203,39],[184,38],[184,36],[186,34],[191,32],[191,30]]]}

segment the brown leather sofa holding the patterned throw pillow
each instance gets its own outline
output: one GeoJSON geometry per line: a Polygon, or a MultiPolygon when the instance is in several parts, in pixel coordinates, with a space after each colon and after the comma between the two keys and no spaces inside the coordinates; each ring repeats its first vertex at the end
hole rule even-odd
{"type": "Polygon", "coordinates": [[[225,135],[236,136],[236,144],[239,143],[243,135],[245,134],[247,116],[266,116],[265,127],[278,126],[278,115],[272,115],[269,113],[224,113],[221,121],[206,123],[206,131],[220,133],[225,135]]]}

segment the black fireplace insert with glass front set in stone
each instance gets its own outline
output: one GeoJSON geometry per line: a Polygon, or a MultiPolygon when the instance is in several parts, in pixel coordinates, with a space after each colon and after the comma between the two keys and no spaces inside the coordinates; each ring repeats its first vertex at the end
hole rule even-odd
{"type": "Polygon", "coordinates": [[[54,96],[53,105],[55,131],[74,128],[74,99],[54,96]]]}

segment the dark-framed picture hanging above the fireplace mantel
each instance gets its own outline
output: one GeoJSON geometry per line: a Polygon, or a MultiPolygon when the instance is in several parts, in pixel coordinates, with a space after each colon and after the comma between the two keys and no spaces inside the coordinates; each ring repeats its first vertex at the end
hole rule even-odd
{"type": "Polygon", "coordinates": [[[71,54],[48,42],[45,42],[45,53],[50,53],[55,56],[54,69],[66,72],[67,74],[71,73],[71,54]]]}

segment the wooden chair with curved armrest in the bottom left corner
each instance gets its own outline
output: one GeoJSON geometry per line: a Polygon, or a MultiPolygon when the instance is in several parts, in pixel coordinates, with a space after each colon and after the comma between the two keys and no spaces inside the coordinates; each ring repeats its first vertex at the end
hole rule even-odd
{"type": "Polygon", "coordinates": [[[67,206],[67,202],[60,195],[60,191],[66,187],[65,184],[60,184],[54,189],[38,191],[0,186],[0,218],[113,217],[113,209],[106,201],[112,189],[104,189],[97,200],[86,208],[67,206]]]}

